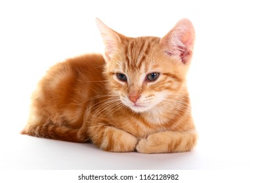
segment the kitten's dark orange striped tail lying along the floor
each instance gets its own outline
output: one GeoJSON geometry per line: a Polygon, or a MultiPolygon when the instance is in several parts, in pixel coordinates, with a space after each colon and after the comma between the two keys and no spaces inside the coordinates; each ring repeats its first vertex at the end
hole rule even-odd
{"type": "Polygon", "coordinates": [[[81,133],[81,129],[73,129],[66,126],[58,126],[54,124],[44,124],[26,127],[22,134],[31,135],[35,137],[54,139],[68,142],[87,142],[89,140],[87,135],[81,133]]]}

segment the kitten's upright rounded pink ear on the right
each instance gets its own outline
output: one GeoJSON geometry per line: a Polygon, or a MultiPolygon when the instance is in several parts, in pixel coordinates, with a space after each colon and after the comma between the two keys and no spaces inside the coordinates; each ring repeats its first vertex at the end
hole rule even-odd
{"type": "Polygon", "coordinates": [[[179,56],[182,63],[186,64],[192,58],[195,41],[195,31],[190,20],[184,18],[161,39],[165,54],[179,56]]]}

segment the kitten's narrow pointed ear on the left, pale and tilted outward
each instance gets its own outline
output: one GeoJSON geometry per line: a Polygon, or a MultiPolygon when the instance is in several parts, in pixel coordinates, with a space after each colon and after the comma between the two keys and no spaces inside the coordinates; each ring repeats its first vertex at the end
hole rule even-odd
{"type": "Polygon", "coordinates": [[[110,60],[114,53],[117,50],[117,45],[121,42],[120,37],[117,35],[115,31],[110,29],[107,25],[105,25],[101,20],[96,18],[96,25],[98,26],[98,30],[102,36],[103,42],[105,44],[105,59],[110,60]]]}

